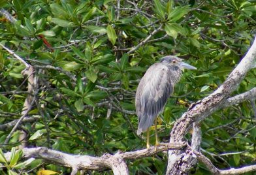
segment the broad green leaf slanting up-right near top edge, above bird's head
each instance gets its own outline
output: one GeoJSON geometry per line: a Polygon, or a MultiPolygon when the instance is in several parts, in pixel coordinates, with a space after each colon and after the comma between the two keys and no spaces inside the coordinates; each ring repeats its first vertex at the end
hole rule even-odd
{"type": "Polygon", "coordinates": [[[189,12],[188,6],[175,7],[173,10],[170,11],[167,19],[169,20],[169,22],[176,22],[176,21],[180,20],[180,18],[182,18],[188,12],[189,12]]]}

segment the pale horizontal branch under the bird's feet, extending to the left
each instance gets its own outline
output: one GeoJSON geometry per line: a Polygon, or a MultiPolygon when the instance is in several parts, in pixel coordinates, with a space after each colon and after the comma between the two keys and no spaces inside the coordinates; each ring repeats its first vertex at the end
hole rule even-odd
{"type": "MultiPolygon", "coordinates": [[[[43,159],[48,163],[54,163],[57,165],[62,165],[64,167],[71,167],[72,173],[76,174],[78,170],[104,170],[111,168],[114,174],[129,174],[127,165],[124,159],[139,159],[142,157],[150,157],[155,153],[167,150],[183,149],[187,144],[175,143],[175,144],[159,144],[156,150],[152,146],[149,149],[130,151],[125,153],[116,153],[114,155],[104,154],[101,157],[93,157],[89,155],[70,155],[68,153],[63,153],[61,151],[50,150],[48,148],[24,148],[23,155],[25,159],[35,158],[43,159]]],[[[10,160],[10,152],[5,153],[7,160],[10,160]]]]}

